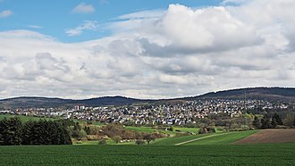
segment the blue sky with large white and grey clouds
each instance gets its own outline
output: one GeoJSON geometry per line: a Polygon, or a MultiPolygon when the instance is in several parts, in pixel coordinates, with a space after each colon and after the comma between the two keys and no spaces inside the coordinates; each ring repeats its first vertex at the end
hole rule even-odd
{"type": "Polygon", "coordinates": [[[294,87],[293,0],[0,0],[0,98],[294,87]]]}

